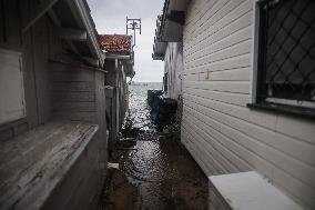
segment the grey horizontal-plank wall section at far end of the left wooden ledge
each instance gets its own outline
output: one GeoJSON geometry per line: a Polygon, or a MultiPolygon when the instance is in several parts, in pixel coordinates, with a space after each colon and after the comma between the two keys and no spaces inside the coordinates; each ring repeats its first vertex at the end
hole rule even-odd
{"type": "Polygon", "coordinates": [[[105,143],[105,73],[57,61],[50,70],[51,119],[96,123],[105,143]]]}

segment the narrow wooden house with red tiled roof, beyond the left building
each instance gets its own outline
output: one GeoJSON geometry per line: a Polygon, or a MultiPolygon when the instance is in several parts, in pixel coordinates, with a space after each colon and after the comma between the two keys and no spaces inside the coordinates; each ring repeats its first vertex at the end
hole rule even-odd
{"type": "Polygon", "coordinates": [[[105,54],[104,67],[106,77],[106,119],[109,129],[110,154],[113,153],[115,142],[124,122],[129,103],[126,78],[135,74],[132,37],[126,34],[101,34],[100,43],[105,54]]]}

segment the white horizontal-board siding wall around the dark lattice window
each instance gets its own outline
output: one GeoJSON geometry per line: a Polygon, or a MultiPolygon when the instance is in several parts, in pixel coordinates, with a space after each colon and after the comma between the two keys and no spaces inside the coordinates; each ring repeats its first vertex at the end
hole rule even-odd
{"type": "Polygon", "coordinates": [[[257,170],[315,208],[315,122],[251,110],[253,0],[192,0],[182,141],[207,176],[257,170]]]}

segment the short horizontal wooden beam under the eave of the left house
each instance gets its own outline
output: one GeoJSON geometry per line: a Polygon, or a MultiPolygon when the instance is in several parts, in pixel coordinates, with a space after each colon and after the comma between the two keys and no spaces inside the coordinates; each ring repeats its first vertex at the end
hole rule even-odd
{"type": "Polygon", "coordinates": [[[87,41],[87,39],[88,39],[87,31],[80,30],[80,29],[58,28],[57,34],[61,39],[65,39],[65,40],[87,41]]]}

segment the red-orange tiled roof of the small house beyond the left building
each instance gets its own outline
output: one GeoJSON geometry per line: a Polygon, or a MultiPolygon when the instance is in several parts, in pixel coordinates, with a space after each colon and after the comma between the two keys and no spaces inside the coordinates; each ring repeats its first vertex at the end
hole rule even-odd
{"type": "Polygon", "coordinates": [[[101,34],[99,36],[102,50],[112,53],[130,53],[131,36],[126,34],[101,34]]]}

